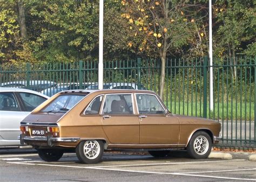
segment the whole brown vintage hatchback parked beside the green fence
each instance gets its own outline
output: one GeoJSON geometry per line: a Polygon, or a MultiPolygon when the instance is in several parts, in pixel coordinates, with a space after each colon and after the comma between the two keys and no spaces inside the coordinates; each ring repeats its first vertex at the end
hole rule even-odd
{"type": "Polygon", "coordinates": [[[21,122],[21,143],[51,162],[76,151],[82,163],[98,163],[104,150],[147,150],[165,157],[186,149],[207,158],[220,140],[220,123],[171,114],[147,90],[70,90],[52,96],[21,122]]]}

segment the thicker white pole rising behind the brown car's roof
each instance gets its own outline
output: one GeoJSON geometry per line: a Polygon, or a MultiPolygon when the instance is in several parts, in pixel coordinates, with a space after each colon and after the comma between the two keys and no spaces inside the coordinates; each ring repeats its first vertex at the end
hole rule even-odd
{"type": "Polygon", "coordinates": [[[103,16],[104,1],[99,0],[99,68],[98,68],[98,89],[103,89],[103,16]]]}

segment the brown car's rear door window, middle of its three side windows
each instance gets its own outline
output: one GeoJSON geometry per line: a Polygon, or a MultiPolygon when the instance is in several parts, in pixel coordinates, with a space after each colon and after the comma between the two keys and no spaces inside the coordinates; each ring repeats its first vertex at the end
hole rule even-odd
{"type": "Polygon", "coordinates": [[[123,115],[133,114],[131,94],[106,95],[103,114],[123,115]]]}

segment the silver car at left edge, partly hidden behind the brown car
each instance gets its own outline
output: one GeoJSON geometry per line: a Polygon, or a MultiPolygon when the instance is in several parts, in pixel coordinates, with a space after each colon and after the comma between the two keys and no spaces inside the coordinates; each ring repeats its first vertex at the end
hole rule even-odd
{"type": "Polygon", "coordinates": [[[0,87],[0,147],[21,145],[20,122],[47,99],[33,90],[0,87]]]}

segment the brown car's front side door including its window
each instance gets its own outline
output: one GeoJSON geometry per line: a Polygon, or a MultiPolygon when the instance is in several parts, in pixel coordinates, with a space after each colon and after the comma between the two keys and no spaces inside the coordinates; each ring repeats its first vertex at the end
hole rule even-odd
{"type": "Polygon", "coordinates": [[[179,143],[179,121],[166,114],[163,104],[153,94],[136,94],[140,122],[140,144],[179,143]]]}

